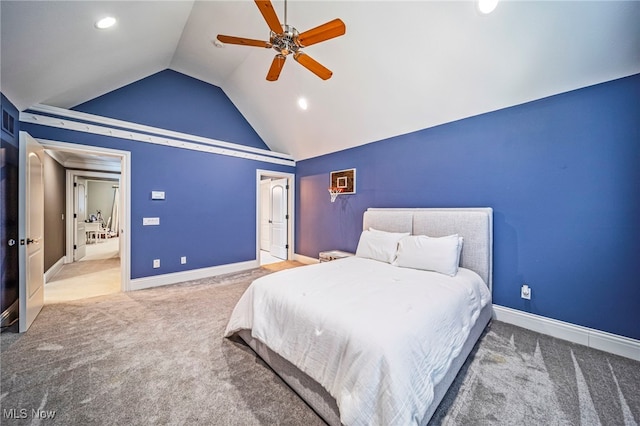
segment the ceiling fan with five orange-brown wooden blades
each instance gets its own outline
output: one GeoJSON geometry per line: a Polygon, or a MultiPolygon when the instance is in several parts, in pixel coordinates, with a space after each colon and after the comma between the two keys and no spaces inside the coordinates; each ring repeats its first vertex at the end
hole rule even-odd
{"type": "Polygon", "coordinates": [[[273,58],[271,68],[269,68],[269,72],[267,73],[268,81],[276,81],[278,79],[287,55],[289,54],[293,54],[293,59],[321,79],[327,80],[331,78],[333,72],[302,52],[302,48],[343,35],[346,32],[344,22],[340,19],[334,19],[333,21],[329,21],[303,33],[298,33],[298,30],[287,24],[287,0],[284,2],[284,25],[280,24],[278,15],[273,9],[270,0],[255,0],[255,2],[264,20],[271,29],[269,41],[222,34],[218,34],[217,39],[223,43],[275,49],[278,53],[275,58],[273,58]]]}

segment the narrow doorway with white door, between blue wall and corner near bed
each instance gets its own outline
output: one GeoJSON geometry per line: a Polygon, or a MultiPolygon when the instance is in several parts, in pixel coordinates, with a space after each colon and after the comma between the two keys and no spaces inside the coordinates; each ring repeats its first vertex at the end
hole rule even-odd
{"type": "Polygon", "coordinates": [[[256,258],[260,265],[293,259],[294,175],[257,171],[256,258]]]}

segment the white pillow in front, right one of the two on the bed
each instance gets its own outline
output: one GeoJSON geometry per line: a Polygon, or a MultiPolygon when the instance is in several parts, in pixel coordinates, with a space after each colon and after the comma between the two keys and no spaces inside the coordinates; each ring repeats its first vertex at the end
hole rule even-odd
{"type": "Polygon", "coordinates": [[[458,273],[462,242],[458,234],[440,238],[426,235],[404,237],[398,242],[398,253],[393,264],[454,276],[458,273]]]}

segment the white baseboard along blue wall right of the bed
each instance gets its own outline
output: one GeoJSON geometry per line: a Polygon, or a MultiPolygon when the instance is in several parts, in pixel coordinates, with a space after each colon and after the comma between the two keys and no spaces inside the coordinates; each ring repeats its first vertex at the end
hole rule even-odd
{"type": "Polygon", "coordinates": [[[493,305],[493,318],[558,339],[640,361],[640,340],[499,305],[493,305]]]}

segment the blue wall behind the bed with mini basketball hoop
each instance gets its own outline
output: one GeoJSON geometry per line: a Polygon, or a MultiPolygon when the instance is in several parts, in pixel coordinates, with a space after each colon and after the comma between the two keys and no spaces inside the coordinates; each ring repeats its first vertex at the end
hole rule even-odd
{"type": "Polygon", "coordinates": [[[297,163],[296,249],[368,207],[494,209],[494,303],[640,339],[640,74],[297,163]],[[357,169],[330,203],[329,172],[357,169]],[[520,298],[528,283],[532,300],[520,298]]]}

